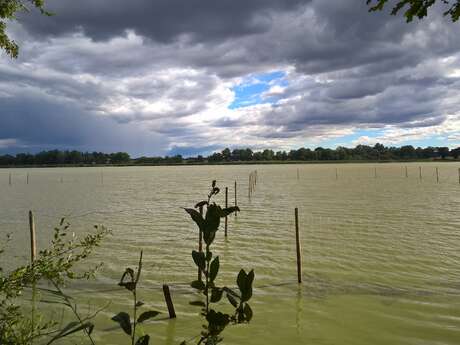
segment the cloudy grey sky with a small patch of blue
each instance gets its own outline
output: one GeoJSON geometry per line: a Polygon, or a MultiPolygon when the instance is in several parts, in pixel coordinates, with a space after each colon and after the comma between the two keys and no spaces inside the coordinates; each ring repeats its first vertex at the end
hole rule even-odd
{"type": "Polygon", "coordinates": [[[48,0],[0,53],[0,153],[460,146],[460,23],[365,2],[48,0]]]}

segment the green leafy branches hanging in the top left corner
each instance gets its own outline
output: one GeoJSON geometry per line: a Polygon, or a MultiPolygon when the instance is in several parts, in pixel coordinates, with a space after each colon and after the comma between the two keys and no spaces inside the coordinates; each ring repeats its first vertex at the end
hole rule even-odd
{"type": "Polygon", "coordinates": [[[19,46],[7,35],[6,23],[9,20],[15,20],[18,12],[30,11],[28,5],[36,7],[44,15],[51,15],[44,8],[45,0],[0,0],[0,49],[3,49],[12,58],[18,57],[19,46]]]}

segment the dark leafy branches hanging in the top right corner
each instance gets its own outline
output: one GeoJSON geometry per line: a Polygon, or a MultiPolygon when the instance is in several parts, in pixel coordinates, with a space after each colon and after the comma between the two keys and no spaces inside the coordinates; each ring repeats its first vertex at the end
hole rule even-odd
{"type": "MultiPolygon", "coordinates": [[[[381,11],[387,4],[388,0],[367,0],[366,3],[371,5],[369,11],[381,11]]],[[[427,16],[428,9],[436,2],[442,2],[447,5],[444,11],[445,16],[450,16],[453,22],[460,17],[460,0],[399,0],[391,10],[392,15],[397,15],[401,10],[404,11],[404,17],[407,22],[411,22],[414,17],[422,19],[427,16]]]]}

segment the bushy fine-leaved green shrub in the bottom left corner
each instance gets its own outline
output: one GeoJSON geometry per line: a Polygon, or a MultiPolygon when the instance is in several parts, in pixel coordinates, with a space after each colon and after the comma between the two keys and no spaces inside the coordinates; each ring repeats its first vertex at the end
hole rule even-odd
{"type": "Polygon", "coordinates": [[[47,339],[46,343],[51,344],[80,331],[94,344],[91,337],[94,325],[90,320],[95,314],[81,316],[72,298],[62,289],[70,280],[93,277],[99,268],[96,266],[81,273],[74,270],[74,266],[86,259],[109,233],[103,226],[95,228],[95,233],[78,239],[70,233],[70,224],[62,219],[54,229],[50,248],[40,251],[33,263],[7,273],[0,267],[0,344],[27,345],[39,339],[47,339]],[[32,313],[24,310],[24,290],[40,282],[50,282],[54,286],[55,290],[48,292],[55,298],[48,302],[69,307],[75,321],[60,327],[57,321],[47,320],[34,306],[32,313]]]}

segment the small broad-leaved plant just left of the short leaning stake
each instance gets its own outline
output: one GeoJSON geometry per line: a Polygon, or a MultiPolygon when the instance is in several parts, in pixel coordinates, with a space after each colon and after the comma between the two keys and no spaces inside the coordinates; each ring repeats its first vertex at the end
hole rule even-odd
{"type": "Polygon", "coordinates": [[[132,268],[127,268],[123,273],[120,282],[118,283],[119,286],[124,287],[125,289],[131,291],[133,295],[133,321],[131,322],[131,317],[126,312],[120,312],[114,317],[112,320],[117,322],[121,329],[129,335],[131,338],[131,345],[148,345],[150,341],[150,336],[148,334],[140,336],[136,340],[136,329],[137,326],[144,321],[154,318],[160,312],[155,310],[148,310],[143,312],[139,317],[137,317],[138,310],[144,305],[144,302],[141,302],[137,299],[137,284],[139,283],[139,279],[141,277],[142,271],[142,251],[139,258],[139,266],[137,267],[137,272],[135,272],[132,268]]]}

